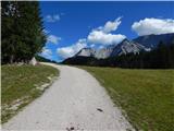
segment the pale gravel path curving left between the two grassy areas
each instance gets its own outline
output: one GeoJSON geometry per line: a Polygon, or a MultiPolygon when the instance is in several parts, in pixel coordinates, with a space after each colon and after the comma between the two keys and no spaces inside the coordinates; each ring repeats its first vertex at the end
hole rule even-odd
{"type": "Polygon", "coordinates": [[[47,64],[58,68],[60,78],[42,96],[4,123],[3,130],[132,129],[104,88],[88,72],[69,66],[47,64]]]}

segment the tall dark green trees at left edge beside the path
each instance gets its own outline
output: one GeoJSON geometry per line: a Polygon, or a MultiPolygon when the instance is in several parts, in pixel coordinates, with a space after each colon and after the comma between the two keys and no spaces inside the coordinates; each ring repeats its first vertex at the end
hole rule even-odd
{"type": "Polygon", "coordinates": [[[26,62],[46,43],[38,1],[1,2],[1,62],[26,62]]]}

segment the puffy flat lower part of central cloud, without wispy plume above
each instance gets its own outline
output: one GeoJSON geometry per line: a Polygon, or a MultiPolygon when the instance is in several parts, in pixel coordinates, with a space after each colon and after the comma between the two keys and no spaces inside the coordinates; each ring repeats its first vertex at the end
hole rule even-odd
{"type": "Polygon", "coordinates": [[[121,43],[126,36],[121,34],[105,34],[101,31],[92,31],[88,35],[88,41],[92,44],[104,44],[104,45],[112,45],[121,43]]]}

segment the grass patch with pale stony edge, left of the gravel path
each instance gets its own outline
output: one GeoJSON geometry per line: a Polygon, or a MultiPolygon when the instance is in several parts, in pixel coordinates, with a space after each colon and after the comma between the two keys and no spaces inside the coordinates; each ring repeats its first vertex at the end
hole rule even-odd
{"type": "Polygon", "coordinates": [[[59,71],[48,66],[1,67],[1,122],[8,121],[25,105],[40,96],[58,76],[59,71]]]}

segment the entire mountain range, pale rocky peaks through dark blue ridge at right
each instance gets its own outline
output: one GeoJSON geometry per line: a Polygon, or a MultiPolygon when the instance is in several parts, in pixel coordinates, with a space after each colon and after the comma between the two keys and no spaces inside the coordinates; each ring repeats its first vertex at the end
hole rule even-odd
{"type": "Polygon", "coordinates": [[[74,59],[76,57],[94,57],[96,59],[107,59],[110,57],[127,55],[130,52],[136,55],[140,51],[150,51],[156,49],[160,41],[163,41],[165,45],[174,41],[174,33],[139,36],[137,38],[134,38],[133,40],[128,40],[127,38],[125,38],[117,45],[109,45],[98,50],[91,47],[86,47],[80,49],[72,58],[74,59]]]}

